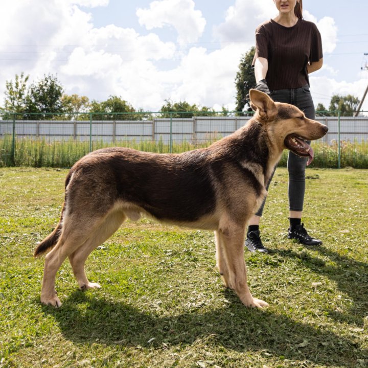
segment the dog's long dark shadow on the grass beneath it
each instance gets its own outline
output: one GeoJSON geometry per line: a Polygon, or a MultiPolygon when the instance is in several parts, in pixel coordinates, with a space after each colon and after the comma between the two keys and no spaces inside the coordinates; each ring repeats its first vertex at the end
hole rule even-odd
{"type": "Polygon", "coordinates": [[[349,367],[368,356],[367,350],[348,338],[267,310],[245,308],[232,291],[225,293],[231,301],[226,308],[171,316],[99,300],[81,291],[64,300],[61,309],[43,306],[43,311],[54,316],[66,339],[76,343],[160,349],[203,339],[204,346],[349,367]]]}

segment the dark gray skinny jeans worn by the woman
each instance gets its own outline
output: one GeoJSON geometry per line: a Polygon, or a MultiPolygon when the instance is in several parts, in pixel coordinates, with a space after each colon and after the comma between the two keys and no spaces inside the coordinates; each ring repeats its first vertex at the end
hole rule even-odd
{"type": "MultiPolygon", "coordinates": [[[[300,108],[309,119],[315,118],[314,104],[308,84],[301,88],[272,90],[271,98],[273,101],[286,102],[300,108]]],[[[289,152],[287,167],[289,172],[288,196],[290,211],[303,211],[306,164],[307,158],[299,157],[294,153],[289,152]]],[[[274,170],[276,170],[276,168],[274,170]]],[[[268,181],[266,187],[267,190],[272,180],[272,176],[268,181]]],[[[257,216],[262,216],[265,202],[266,198],[264,199],[260,209],[256,212],[257,216]]]]}

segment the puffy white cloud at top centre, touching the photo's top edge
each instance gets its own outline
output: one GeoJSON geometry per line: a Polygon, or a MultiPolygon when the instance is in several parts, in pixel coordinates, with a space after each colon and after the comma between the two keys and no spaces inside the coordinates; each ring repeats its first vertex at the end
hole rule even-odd
{"type": "Polygon", "coordinates": [[[197,41],[206,24],[201,11],[194,7],[193,0],[160,0],[152,2],[149,9],[138,9],[136,15],[148,30],[173,27],[178,43],[186,44],[197,41]]]}

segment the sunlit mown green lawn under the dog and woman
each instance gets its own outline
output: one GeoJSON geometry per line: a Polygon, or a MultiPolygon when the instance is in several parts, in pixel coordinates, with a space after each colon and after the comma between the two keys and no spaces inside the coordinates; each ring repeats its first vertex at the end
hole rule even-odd
{"type": "Polygon", "coordinates": [[[368,179],[308,169],[304,223],[323,239],[286,238],[287,171],[269,190],[261,230],[269,255],[245,253],[245,308],[223,288],[213,234],[149,220],[121,227],[87,260],[102,289],[58,272],[60,309],[39,302],[35,245],[60,215],[67,170],[0,169],[0,367],[368,366],[368,179]]]}

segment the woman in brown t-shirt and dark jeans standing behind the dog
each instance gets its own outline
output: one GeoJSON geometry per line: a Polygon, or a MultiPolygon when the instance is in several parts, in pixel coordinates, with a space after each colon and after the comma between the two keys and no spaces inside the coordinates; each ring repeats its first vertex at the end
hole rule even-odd
{"type": "MultiPolygon", "coordinates": [[[[256,89],[269,94],[274,101],[297,106],[304,111],[307,118],[314,119],[308,75],[323,64],[320,34],[315,24],[303,19],[302,0],[273,2],[279,14],[261,24],[256,30],[256,53],[253,60],[256,89]]],[[[308,235],[301,220],[306,162],[306,158],[289,152],[288,238],[297,239],[306,245],[320,245],[320,240],[308,235]]],[[[264,203],[265,201],[249,221],[245,245],[250,251],[268,251],[262,244],[259,232],[264,203]]]]}

